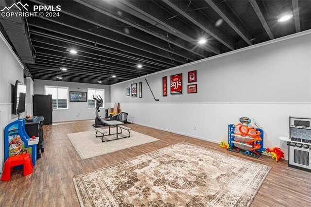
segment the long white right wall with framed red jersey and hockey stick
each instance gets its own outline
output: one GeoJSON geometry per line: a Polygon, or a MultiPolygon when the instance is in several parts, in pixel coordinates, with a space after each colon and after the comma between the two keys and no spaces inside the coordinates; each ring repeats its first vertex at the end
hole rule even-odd
{"type": "Polygon", "coordinates": [[[311,31],[279,38],[145,77],[143,98],[126,96],[132,81],[111,86],[111,102],[134,122],[214,142],[227,127],[254,118],[265,131],[264,147],[286,143],[288,117],[311,117],[311,31]],[[197,70],[198,93],[187,94],[188,71],[197,70]],[[162,97],[162,77],[183,73],[183,94],[162,97]],[[196,127],[194,130],[193,127],[196,127]]]}

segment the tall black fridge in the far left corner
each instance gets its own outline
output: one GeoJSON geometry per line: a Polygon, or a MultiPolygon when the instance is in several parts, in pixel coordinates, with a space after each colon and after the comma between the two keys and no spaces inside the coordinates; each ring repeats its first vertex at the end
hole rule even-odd
{"type": "Polygon", "coordinates": [[[44,117],[43,124],[52,124],[53,122],[53,106],[52,95],[34,95],[34,116],[44,117]]]}

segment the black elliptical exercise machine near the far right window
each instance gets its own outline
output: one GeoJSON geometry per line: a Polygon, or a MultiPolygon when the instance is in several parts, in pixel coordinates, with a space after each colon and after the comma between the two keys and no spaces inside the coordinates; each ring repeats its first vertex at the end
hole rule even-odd
{"type": "Polygon", "coordinates": [[[106,126],[107,124],[105,124],[103,121],[115,120],[115,121],[121,121],[123,123],[129,123],[127,121],[127,115],[128,114],[125,112],[121,112],[121,113],[114,115],[114,116],[105,117],[104,120],[102,120],[101,116],[99,116],[98,112],[100,112],[99,108],[101,107],[101,105],[103,104],[104,101],[100,95],[98,95],[96,97],[93,95],[93,102],[94,101],[96,102],[96,111],[95,111],[96,118],[95,118],[95,123],[92,124],[94,127],[106,126]]]}

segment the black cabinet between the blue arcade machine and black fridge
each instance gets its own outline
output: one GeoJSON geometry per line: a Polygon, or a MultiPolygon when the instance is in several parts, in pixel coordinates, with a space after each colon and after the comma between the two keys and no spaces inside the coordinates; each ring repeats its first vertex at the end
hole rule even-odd
{"type": "Polygon", "coordinates": [[[41,157],[41,153],[44,152],[44,133],[43,122],[44,117],[37,117],[32,122],[25,122],[25,130],[29,137],[39,137],[39,143],[37,144],[37,158],[41,157]]]}

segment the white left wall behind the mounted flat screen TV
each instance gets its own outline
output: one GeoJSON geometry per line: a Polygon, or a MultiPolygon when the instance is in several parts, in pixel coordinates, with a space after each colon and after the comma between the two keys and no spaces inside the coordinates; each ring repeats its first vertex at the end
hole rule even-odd
{"type": "MultiPolygon", "coordinates": [[[[15,86],[18,80],[24,82],[24,71],[17,57],[13,54],[8,43],[0,33],[0,172],[4,164],[4,127],[17,120],[17,115],[12,114],[13,102],[11,102],[11,85],[15,86]]],[[[24,113],[20,114],[21,118],[24,113]]]]}

